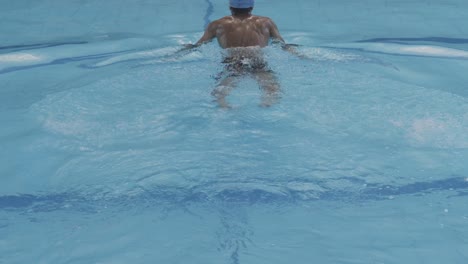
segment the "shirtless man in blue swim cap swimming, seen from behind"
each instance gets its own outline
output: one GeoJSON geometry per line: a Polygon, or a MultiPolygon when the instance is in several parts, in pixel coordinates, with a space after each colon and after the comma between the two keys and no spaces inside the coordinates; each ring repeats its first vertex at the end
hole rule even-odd
{"type": "Polygon", "coordinates": [[[235,88],[239,77],[246,75],[252,76],[260,85],[263,91],[261,105],[271,106],[279,99],[280,86],[268,68],[261,48],[272,40],[283,49],[294,51],[284,42],[270,18],[252,15],[254,0],[229,0],[229,5],[231,16],[211,22],[200,40],[186,47],[195,48],[216,38],[226,49],[224,71],[219,74],[219,83],[212,92],[221,107],[230,107],[226,96],[235,88]]]}

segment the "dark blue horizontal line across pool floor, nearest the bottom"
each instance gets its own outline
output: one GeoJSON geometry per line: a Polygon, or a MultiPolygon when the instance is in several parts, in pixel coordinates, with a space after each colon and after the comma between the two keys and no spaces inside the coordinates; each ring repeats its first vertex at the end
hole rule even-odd
{"type": "MultiPolygon", "coordinates": [[[[337,178],[338,180],[340,178],[337,178]]],[[[372,184],[361,181],[359,178],[344,177],[355,186],[363,186],[358,191],[346,189],[296,189],[285,188],[286,192],[269,192],[263,189],[230,189],[220,186],[220,190],[215,194],[208,194],[203,185],[194,188],[184,189],[179,187],[155,188],[145,190],[139,195],[127,196],[125,194],[107,199],[95,200],[88,195],[79,192],[62,192],[49,194],[18,194],[18,195],[0,195],[0,212],[11,210],[24,210],[31,212],[52,212],[75,208],[77,210],[94,210],[101,208],[102,204],[106,206],[119,206],[128,204],[134,206],[142,202],[167,202],[169,204],[180,204],[181,199],[185,202],[248,202],[254,203],[280,203],[280,202],[307,202],[315,200],[324,201],[381,201],[389,198],[395,199],[404,195],[429,195],[444,192],[447,198],[468,196],[468,180],[465,176],[455,176],[451,178],[413,182],[405,185],[390,184],[372,184]],[[366,183],[366,184],[363,184],[366,183]],[[452,193],[447,193],[448,191],[452,193]],[[149,196],[148,196],[149,195],[149,196]]],[[[213,183],[216,184],[216,183],[213,183]]],[[[237,184],[237,183],[236,183],[237,184]]],[[[284,182],[274,182],[275,186],[285,186],[284,182]]],[[[302,184],[313,184],[314,186],[326,186],[325,180],[303,180],[302,184]]],[[[237,185],[236,185],[237,186],[237,185]]],[[[0,219],[1,220],[1,219],[0,219]]],[[[1,226],[0,226],[1,227],[1,226]]]]}

